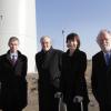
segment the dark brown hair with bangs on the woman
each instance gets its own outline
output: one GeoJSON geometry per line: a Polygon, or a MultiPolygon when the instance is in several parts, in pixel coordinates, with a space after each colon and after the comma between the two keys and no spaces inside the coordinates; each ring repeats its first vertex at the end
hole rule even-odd
{"type": "Polygon", "coordinates": [[[77,33],[70,33],[70,34],[67,36],[67,43],[68,43],[68,41],[74,41],[74,40],[77,40],[78,48],[79,48],[80,47],[80,38],[79,38],[79,36],[77,33]]]}

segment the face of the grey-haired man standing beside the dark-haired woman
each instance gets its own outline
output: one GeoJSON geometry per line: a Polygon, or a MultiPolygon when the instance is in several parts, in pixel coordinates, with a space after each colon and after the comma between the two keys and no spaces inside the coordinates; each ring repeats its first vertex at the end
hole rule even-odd
{"type": "Polygon", "coordinates": [[[48,51],[50,50],[51,48],[51,41],[49,38],[44,38],[42,41],[41,41],[41,47],[44,51],[48,51]]]}

